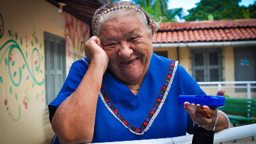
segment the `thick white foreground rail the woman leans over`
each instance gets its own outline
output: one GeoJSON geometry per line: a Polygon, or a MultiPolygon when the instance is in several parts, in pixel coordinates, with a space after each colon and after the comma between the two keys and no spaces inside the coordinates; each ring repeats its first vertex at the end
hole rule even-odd
{"type": "MultiPolygon", "coordinates": [[[[214,134],[214,143],[221,143],[223,141],[236,140],[248,136],[256,135],[256,124],[244,125],[240,127],[233,127],[224,129],[223,131],[214,134]]],[[[159,138],[152,140],[135,140],[135,141],[116,141],[104,144],[189,144],[192,143],[193,134],[186,136],[179,136],[174,138],[159,138]]]]}

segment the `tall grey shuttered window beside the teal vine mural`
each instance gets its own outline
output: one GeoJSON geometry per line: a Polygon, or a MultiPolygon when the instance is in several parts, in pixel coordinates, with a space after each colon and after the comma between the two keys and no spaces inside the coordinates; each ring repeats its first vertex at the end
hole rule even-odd
{"type": "Polygon", "coordinates": [[[66,79],[65,42],[65,38],[44,33],[46,108],[56,98],[66,79]]]}

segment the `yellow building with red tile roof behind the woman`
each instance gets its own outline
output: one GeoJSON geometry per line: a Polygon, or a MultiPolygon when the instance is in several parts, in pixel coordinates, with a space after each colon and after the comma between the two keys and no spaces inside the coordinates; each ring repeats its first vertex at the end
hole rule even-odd
{"type": "MultiPolygon", "coordinates": [[[[154,52],[179,60],[197,82],[256,81],[256,19],[163,22],[154,52]]],[[[226,86],[235,84],[226,84],[226,86]]],[[[218,89],[204,88],[209,95],[218,89]]],[[[246,98],[246,89],[226,89],[246,98]]],[[[255,89],[251,98],[256,99],[255,89]]]]}

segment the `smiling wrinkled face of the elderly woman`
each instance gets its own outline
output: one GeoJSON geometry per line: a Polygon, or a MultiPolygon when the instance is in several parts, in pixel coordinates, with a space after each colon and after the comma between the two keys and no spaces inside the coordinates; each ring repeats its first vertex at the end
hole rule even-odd
{"type": "Polygon", "coordinates": [[[105,22],[100,40],[109,56],[108,69],[123,83],[143,81],[152,55],[152,38],[136,17],[124,16],[105,22]]]}

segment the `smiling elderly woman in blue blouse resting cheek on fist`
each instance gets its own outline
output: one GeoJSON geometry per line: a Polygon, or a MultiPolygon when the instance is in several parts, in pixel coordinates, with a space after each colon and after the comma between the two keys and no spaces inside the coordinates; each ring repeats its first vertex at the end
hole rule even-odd
{"type": "Polygon", "coordinates": [[[60,143],[171,138],[193,133],[193,122],[210,131],[216,124],[216,132],[228,127],[224,113],[216,123],[216,109],[205,106],[207,118],[178,106],[179,95],[205,93],[177,61],[152,52],[157,28],[136,4],[108,3],[95,12],[87,57],[73,63],[49,104],[60,143]]]}

